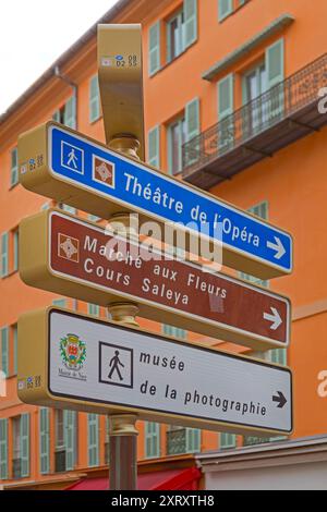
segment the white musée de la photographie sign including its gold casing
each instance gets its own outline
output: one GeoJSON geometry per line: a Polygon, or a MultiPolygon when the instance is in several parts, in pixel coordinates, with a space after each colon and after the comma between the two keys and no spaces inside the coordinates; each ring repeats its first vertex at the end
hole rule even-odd
{"type": "Polygon", "coordinates": [[[237,434],[292,431],[288,368],[53,307],[21,317],[19,331],[23,402],[237,434]]]}

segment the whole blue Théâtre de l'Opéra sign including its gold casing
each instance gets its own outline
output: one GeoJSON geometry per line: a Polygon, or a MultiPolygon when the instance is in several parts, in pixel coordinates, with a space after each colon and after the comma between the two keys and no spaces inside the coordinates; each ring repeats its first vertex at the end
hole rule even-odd
{"type": "Polygon", "coordinates": [[[292,270],[284,231],[70,129],[49,122],[22,135],[19,156],[27,190],[104,219],[135,211],[213,243],[222,233],[223,265],[262,279],[292,270]]]}

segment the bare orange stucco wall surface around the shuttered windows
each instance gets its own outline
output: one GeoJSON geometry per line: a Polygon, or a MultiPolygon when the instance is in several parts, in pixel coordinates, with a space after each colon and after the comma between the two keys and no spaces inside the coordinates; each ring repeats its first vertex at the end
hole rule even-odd
{"type": "MultiPolygon", "coordinates": [[[[294,23],[284,31],[258,46],[240,59],[235,64],[217,75],[235,73],[235,108],[241,107],[242,73],[251,69],[264,56],[265,48],[280,37],[284,37],[284,74],[289,76],[314,61],[326,51],[327,3],[325,0],[250,0],[242,9],[218,22],[217,0],[198,1],[198,38],[183,54],[172,61],[153,77],[148,76],[148,27],[158,19],[165,23],[179,7],[181,1],[162,1],[154,10],[144,13],[145,1],[132,2],[138,8],[126,10],[117,22],[140,21],[144,27],[144,92],[146,132],[156,125],[160,131],[160,159],[167,169],[167,124],[180,114],[185,105],[198,97],[201,100],[201,130],[204,131],[217,122],[217,84],[216,81],[202,80],[202,74],[217,61],[254,37],[272,21],[289,13],[294,23]],[[140,11],[140,14],[137,12],[140,11]]],[[[150,2],[154,7],[154,2],[150,2]]],[[[165,64],[165,31],[162,29],[161,63],[165,64]]],[[[77,58],[62,70],[78,84],[78,131],[104,141],[101,120],[89,123],[88,84],[96,73],[96,41],[85,45],[77,58]]],[[[0,233],[19,225],[20,220],[38,211],[46,198],[32,194],[21,186],[10,190],[10,150],[16,145],[21,132],[31,129],[52,117],[71,95],[68,86],[58,78],[49,80],[33,98],[26,100],[1,126],[0,134],[0,233]]],[[[250,208],[263,200],[268,203],[269,220],[291,232],[294,237],[294,272],[290,277],[270,282],[272,290],[289,295],[293,304],[292,341],[288,354],[289,364],[294,370],[294,437],[312,436],[327,431],[327,398],[317,392],[318,374],[327,369],[327,278],[326,252],[327,237],[324,236],[327,218],[327,129],[314,133],[293,145],[267,158],[261,163],[246,169],[231,181],[216,186],[211,192],[242,208],[250,208]]],[[[83,214],[82,214],[83,215],[83,214]]],[[[12,243],[12,242],[11,242],[12,243]]],[[[12,254],[12,251],[11,251],[12,254]]],[[[20,281],[19,275],[10,273],[0,280],[0,327],[16,322],[20,314],[48,305],[53,294],[27,288],[20,281]]],[[[73,301],[68,302],[74,307],[73,301]]],[[[78,303],[78,309],[85,305],[78,303]]],[[[105,315],[105,310],[101,310],[105,315]]],[[[142,321],[150,328],[159,327],[142,321]]],[[[201,339],[191,334],[192,339],[201,339]]],[[[210,342],[208,340],[208,342],[210,342]]],[[[213,344],[213,342],[210,342],[213,344]]],[[[11,340],[12,345],[12,340],[11,340]]],[[[225,345],[225,348],[230,348],[225,345]]],[[[240,349],[238,349],[240,350],[240,349]]],[[[12,352],[12,346],[11,346],[12,352]]],[[[12,357],[11,357],[12,359],[12,357]]],[[[9,394],[0,400],[0,417],[12,417],[22,412],[32,413],[31,425],[31,478],[43,479],[39,475],[37,409],[22,405],[16,398],[16,379],[9,378],[9,394]]],[[[78,461],[77,466],[87,466],[86,418],[80,415],[78,461]]],[[[162,428],[162,434],[166,427],[162,428]]],[[[53,430],[53,417],[52,417],[53,430]]],[[[239,441],[241,442],[241,441],[239,441]]],[[[104,464],[105,419],[101,419],[100,447],[104,464]]],[[[11,434],[9,450],[11,460],[11,434]]],[[[161,436],[161,451],[166,453],[165,436],[161,436]]],[[[204,432],[202,449],[218,447],[216,432],[204,432]]],[[[53,456],[53,436],[51,453],[53,456]]],[[[140,425],[138,454],[144,456],[144,428],[140,425]]],[[[52,461],[53,464],[53,461],[52,461]]],[[[48,478],[48,477],[46,477],[48,478]]]]}

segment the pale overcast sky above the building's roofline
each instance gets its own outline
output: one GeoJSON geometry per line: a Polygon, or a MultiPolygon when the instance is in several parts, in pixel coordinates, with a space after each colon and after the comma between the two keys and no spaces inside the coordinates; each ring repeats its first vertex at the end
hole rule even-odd
{"type": "Polygon", "coordinates": [[[0,113],[117,0],[0,0],[0,113]]]}

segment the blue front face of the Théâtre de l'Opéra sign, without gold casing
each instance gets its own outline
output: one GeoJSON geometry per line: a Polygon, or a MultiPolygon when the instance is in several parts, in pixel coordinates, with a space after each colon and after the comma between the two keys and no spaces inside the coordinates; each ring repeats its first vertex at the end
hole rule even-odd
{"type": "Polygon", "coordinates": [[[292,239],[284,231],[58,125],[49,127],[48,148],[50,172],[61,180],[211,240],[222,232],[225,248],[291,272],[292,239]]]}

